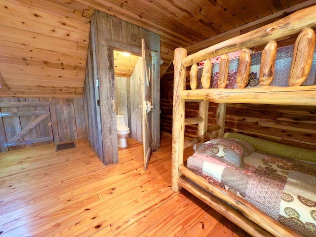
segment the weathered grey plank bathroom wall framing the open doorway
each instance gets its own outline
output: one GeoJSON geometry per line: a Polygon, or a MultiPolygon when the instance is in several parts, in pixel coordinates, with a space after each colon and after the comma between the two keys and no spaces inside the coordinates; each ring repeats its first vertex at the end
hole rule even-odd
{"type": "MultiPolygon", "coordinates": [[[[104,164],[118,162],[118,136],[116,112],[116,85],[114,50],[142,53],[142,39],[147,43],[153,62],[153,150],[160,146],[159,94],[160,94],[160,36],[142,27],[95,10],[91,18],[86,78],[84,85],[87,134],[91,145],[104,164]]],[[[128,84],[127,84],[128,86],[128,84]]],[[[131,85],[129,85],[131,86],[131,85]]],[[[136,98],[141,94],[133,93],[136,98]],[[136,95],[135,95],[136,94],[136,95]]],[[[131,100],[131,98],[130,98],[131,100]]],[[[135,104],[137,110],[142,103],[135,104]]],[[[128,108],[128,107],[127,107],[128,108]]],[[[136,109],[135,109],[136,110],[136,109]]],[[[130,114],[135,111],[130,107],[130,114]]],[[[126,123],[134,124],[127,113],[126,123]]],[[[136,126],[136,125],[135,125],[136,126]]],[[[141,127],[141,126],[138,126],[141,127]]],[[[131,134],[132,136],[133,134],[131,134]]]]}

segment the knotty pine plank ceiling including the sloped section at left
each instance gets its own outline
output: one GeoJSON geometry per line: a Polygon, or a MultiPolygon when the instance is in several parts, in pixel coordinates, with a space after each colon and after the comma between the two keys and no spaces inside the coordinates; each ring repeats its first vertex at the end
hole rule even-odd
{"type": "Polygon", "coordinates": [[[94,9],[159,34],[162,75],[176,47],[195,51],[313,4],[316,0],[1,0],[0,96],[82,96],[94,9]]]}

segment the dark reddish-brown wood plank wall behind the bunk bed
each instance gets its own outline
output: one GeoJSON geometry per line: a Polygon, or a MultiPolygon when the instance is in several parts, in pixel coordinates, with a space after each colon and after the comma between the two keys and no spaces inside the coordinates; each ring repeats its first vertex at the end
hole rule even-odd
{"type": "MultiPolygon", "coordinates": [[[[189,72],[187,75],[189,88],[189,72]]],[[[173,66],[170,66],[160,83],[160,130],[172,133],[173,66]]],[[[216,109],[217,104],[210,103],[209,125],[216,123],[216,109]]],[[[197,117],[197,114],[198,104],[186,103],[186,118],[197,117]]],[[[228,104],[225,131],[316,150],[316,106],[228,104]]],[[[187,138],[195,137],[196,134],[197,126],[185,126],[187,138]]]]}

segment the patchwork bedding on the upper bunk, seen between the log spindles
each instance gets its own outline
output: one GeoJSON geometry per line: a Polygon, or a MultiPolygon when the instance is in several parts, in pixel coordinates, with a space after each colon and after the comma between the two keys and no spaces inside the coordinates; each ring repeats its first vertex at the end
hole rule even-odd
{"type": "MultiPolygon", "coordinates": [[[[275,75],[271,81],[271,86],[288,86],[288,78],[290,75],[290,69],[293,59],[294,45],[277,48],[276,52],[276,64],[275,64],[275,75]]],[[[225,88],[237,88],[236,79],[238,72],[239,62],[239,51],[229,54],[229,73],[228,83],[225,88]]],[[[259,74],[260,74],[260,61],[262,52],[251,53],[251,67],[246,88],[259,86],[259,74]]],[[[212,72],[211,72],[211,85],[210,88],[218,88],[218,77],[219,77],[219,57],[212,58],[212,72]]],[[[199,63],[197,71],[197,89],[202,89],[201,76],[203,71],[203,62],[199,63]]],[[[302,83],[302,85],[314,85],[316,84],[316,45],[314,49],[314,58],[312,67],[308,78],[302,83]]]]}

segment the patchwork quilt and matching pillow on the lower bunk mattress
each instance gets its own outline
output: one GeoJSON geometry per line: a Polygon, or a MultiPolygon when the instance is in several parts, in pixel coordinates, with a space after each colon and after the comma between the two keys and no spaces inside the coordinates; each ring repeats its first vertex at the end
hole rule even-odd
{"type": "Polygon", "coordinates": [[[201,144],[187,167],[300,235],[316,237],[316,165],[217,138],[201,144]]]}

